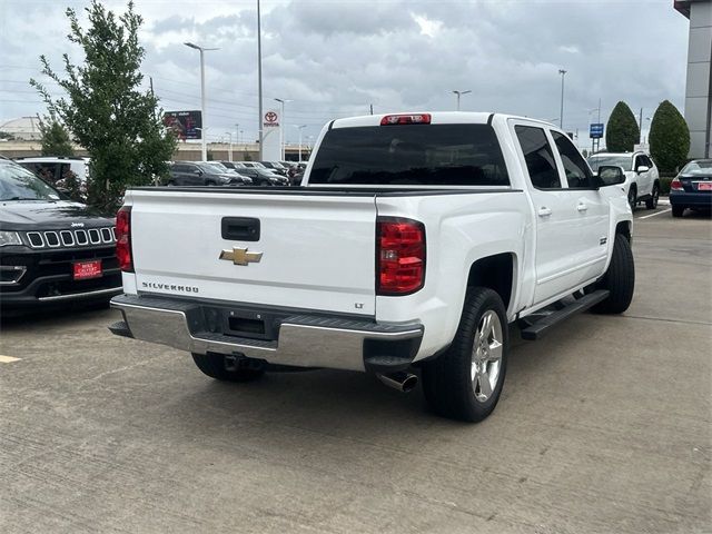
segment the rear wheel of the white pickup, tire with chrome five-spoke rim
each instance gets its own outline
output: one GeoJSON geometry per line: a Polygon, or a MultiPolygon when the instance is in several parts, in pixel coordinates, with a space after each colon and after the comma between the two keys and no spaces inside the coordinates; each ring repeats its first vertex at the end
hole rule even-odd
{"type": "Polygon", "coordinates": [[[433,409],[459,421],[487,417],[502,393],[508,343],[500,295],[486,287],[469,288],[453,344],[423,366],[423,390],[433,409]]]}

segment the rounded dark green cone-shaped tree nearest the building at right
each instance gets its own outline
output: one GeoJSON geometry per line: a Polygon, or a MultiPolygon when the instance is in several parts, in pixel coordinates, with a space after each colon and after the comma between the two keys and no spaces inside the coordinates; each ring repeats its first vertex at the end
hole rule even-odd
{"type": "Polygon", "coordinates": [[[688,159],[690,129],[672,102],[657,106],[650,125],[650,155],[662,172],[675,172],[688,159]]]}

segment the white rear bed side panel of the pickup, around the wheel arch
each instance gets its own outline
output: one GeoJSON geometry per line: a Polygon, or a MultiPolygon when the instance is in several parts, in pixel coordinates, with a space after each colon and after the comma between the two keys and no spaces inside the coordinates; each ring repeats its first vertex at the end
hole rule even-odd
{"type": "MultiPolygon", "coordinates": [[[[383,322],[417,319],[426,325],[416,359],[447,346],[462,315],[472,265],[496,254],[512,254],[514,279],[531,236],[528,204],[523,191],[473,192],[408,198],[378,197],[378,216],[409,217],[426,228],[425,287],[405,297],[376,297],[376,318],[383,322]]],[[[510,319],[520,306],[515,283],[508,306],[510,319]]]]}

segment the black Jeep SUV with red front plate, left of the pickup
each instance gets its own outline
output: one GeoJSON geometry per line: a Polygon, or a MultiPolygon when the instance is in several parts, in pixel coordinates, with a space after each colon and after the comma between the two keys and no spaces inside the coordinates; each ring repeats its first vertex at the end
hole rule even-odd
{"type": "Polygon", "coordinates": [[[113,218],[0,160],[0,309],[121,293],[113,218]]]}

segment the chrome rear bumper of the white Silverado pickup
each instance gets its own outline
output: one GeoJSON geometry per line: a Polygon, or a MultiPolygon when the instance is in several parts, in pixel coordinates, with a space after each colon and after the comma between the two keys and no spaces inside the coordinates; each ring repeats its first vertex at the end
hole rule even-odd
{"type": "Polygon", "coordinates": [[[111,307],[123,314],[125,326],[111,327],[117,335],[189,353],[241,354],[296,367],[403,368],[413,360],[423,337],[423,326],[415,323],[379,324],[295,314],[280,320],[277,339],[253,339],[208,332],[201,304],[196,301],[120,295],[111,299],[111,307]]]}

